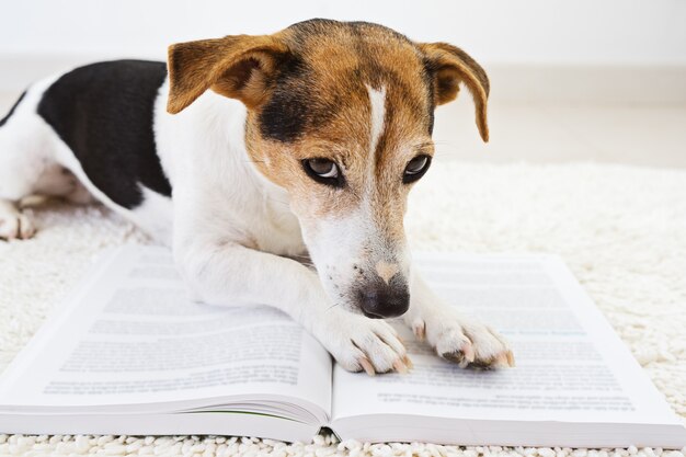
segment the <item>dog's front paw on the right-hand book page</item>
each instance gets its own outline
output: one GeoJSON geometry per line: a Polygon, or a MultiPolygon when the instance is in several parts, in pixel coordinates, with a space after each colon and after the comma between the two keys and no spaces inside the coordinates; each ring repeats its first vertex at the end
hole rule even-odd
{"type": "Polygon", "coordinates": [[[445,310],[416,317],[409,323],[418,339],[426,339],[441,357],[460,367],[514,366],[514,355],[505,339],[479,321],[445,310]]]}

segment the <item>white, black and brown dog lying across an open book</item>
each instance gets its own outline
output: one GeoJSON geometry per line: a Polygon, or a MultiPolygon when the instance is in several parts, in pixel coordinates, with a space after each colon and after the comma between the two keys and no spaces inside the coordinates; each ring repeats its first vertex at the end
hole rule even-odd
{"type": "Polygon", "coordinates": [[[488,141],[489,80],[469,55],[310,20],[168,57],[80,67],[22,94],[0,121],[0,237],[34,235],[27,195],[96,201],[171,245],[195,299],[274,306],[347,370],[411,367],[384,320],[401,316],[461,367],[514,365],[500,334],[411,269],[403,229],[434,110],[460,84],[488,141]]]}

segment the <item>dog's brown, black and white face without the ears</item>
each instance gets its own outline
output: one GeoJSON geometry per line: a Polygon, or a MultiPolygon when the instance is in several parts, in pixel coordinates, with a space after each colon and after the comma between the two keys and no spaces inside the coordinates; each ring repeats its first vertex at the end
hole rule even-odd
{"type": "Polygon", "coordinates": [[[425,170],[407,171],[433,155],[434,108],[422,55],[382,36],[294,42],[300,64],[248,113],[245,132],[255,167],[288,192],[333,304],[377,318],[409,306],[403,217],[425,170]]]}

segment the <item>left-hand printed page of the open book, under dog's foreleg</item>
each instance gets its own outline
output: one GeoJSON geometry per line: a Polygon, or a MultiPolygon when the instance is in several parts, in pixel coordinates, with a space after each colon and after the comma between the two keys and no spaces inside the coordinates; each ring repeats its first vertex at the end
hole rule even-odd
{"type": "Polygon", "coordinates": [[[191,301],[162,248],[127,247],[104,262],[12,364],[3,409],[169,412],[231,397],[263,413],[309,403],[328,415],[331,357],[285,313],[191,301]],[[297,405],[281,404],[288,397],[297,405]]]}

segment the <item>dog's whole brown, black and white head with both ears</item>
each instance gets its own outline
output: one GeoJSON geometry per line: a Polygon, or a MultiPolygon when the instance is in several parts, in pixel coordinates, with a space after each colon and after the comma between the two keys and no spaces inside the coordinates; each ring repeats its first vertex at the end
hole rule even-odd
{"type": "Polygon", "coordinates": [[[287,190],[333,301],[373,318],[407,311],[403,216],[434,155],[434,108],[464,83],[488,140],[483,69],[448,44],[312,20],[274,35],[173,45],[169,72],[170,113],[207,89],[247,106],[248,152],[287,190]]]}

